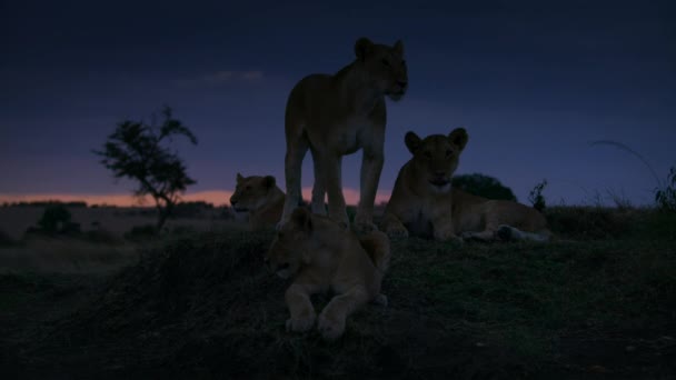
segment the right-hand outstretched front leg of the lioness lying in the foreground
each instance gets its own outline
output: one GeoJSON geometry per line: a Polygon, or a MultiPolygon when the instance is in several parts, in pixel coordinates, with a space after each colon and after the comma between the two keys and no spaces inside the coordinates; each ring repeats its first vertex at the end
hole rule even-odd
{"type": "Polygon", "coordinates": [[[356,286],[344,294],[336,296],[324,308],[317,320],[317,328],[326,340],[336,340],[345,332],[345,321],[359,307],[368,302],[368,293],[362,286],[356,286]]]}

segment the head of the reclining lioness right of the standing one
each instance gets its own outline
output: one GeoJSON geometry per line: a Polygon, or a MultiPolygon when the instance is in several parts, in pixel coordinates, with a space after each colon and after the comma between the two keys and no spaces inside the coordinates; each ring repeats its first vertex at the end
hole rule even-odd
{"type": "Polygon", "coordinates": [[[431,134],[425,139],[414,132],[406,133],[406,147],[414,154],[416,172],[422,176],[433,192],[450,191],[450,179],[458,168],[467,140],[464,128],[456,128],[448,136],[431,134]]]}

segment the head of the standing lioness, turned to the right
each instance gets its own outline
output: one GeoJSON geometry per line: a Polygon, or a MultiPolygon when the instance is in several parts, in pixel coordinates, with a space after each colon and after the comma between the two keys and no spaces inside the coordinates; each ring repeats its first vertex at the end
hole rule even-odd
{"type": "Polygon", "coordinates": [[[408,88],[408,71],[401,41],[389,47],[360,38],[355,43],[355,53],[357,64],[376,89],[395,101],[404,97],[408,88]]]}

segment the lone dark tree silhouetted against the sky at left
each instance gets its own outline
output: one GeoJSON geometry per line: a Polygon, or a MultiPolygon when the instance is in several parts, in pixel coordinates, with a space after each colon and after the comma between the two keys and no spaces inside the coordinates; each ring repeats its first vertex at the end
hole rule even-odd
{"type": "Polygon", "coordinates": [[[162,122],[157,124],[152,114],[151,123],[125,120],[118,123],[103,150],[93,153],[102,157],[101,164],[111,170],[115,178],[129,178],[138,181],[135,196],[150,196],[158,211],[157,230],[160,231],[180,200],[180,194],[188,186],[197,183],[188,177],[186,164],[176,151],[162,147],[173,136],[183,136],[192,144],[197,138],[172,117],[171,108],[165,106],[161,111],[162,122]]]}

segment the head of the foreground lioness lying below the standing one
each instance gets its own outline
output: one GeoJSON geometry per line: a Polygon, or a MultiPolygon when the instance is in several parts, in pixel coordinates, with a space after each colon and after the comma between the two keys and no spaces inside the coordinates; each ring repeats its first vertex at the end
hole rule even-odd
{"type": "Polygon", "coordinates": [[[266,267],[282,279],[288,279],[310,263],[312,223],[309,211],[296,209],[272,240],[266,254],[266,267]]]}

